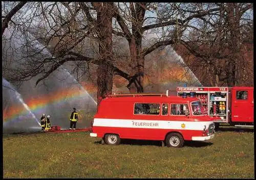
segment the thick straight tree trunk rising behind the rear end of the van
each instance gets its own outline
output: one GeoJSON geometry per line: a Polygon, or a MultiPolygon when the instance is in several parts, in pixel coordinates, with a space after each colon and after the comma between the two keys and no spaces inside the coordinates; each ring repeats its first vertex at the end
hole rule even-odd
{"type": "Polygon", "coordinates": [[[97,102],[113,87],[113,56],[112,56],[112,9],[113,3],[94,3],[97,11],[97,36],[99,41],[100,63],[97,69],[97,102]]]}

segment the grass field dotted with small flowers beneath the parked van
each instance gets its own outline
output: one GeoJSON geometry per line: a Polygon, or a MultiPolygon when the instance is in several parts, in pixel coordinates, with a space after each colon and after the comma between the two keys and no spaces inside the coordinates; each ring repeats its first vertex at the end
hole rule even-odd
{"type": "Polygon", "coordinates": [[[221,127],[209,142],[100,143],[89,132],[3,135],[4,178],[254,178],[253,129],[221,127]]]}

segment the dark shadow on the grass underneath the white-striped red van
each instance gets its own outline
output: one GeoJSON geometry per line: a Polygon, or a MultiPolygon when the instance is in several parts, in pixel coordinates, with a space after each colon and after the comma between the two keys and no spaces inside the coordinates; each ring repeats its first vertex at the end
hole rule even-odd
{"type": "MultiPolygon", "coordinates": [[[[101,144],[101,140],[95,141],[95,144],[101,144]]],[[[150,146],[162,146],[161,141],[154,141],[154,140],[136,140],[136,139],[121,139],[120,144],[126,144],[126,145],[150,145],[150,146]]],[[[205,147],[212,145],[211,142],[201,142],[201,141],[185,141],[184,146],[189,147],[205,147]]],[[[166,146],[166,144],[164,145],[166,146]]]]}

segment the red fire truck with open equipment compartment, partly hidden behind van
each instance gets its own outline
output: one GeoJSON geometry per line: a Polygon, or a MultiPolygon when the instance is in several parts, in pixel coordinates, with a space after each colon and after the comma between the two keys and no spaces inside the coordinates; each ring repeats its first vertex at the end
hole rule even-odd
{"type": "Polygon", "coordinates": [[[177,87],[178,96],[196,96],[214,122],[234,126],[252,126],[254,123],[253,87],[177,87]]]}

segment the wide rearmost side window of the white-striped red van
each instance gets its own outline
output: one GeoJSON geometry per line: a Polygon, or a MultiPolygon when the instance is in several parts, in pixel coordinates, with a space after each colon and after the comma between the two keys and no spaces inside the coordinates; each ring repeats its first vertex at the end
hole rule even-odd
{"type": "Polygon", "coordinates": [[[148,114],[148,115],[159,115],[160,104],[152,103],[135,103],[134,114],[148,114]]]}

